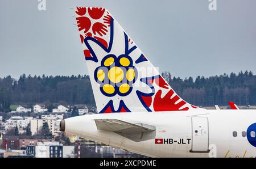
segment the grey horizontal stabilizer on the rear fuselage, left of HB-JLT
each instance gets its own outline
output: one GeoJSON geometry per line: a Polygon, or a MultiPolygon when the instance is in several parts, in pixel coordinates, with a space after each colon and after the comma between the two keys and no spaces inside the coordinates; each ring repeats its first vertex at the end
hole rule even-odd
{"type": "Polygon", "coordinates": [[[98,130],[117,133],[135,142],[151,140],[155,138],[155,126],[117,120],[117,119],[95,119],[98,130]]]}

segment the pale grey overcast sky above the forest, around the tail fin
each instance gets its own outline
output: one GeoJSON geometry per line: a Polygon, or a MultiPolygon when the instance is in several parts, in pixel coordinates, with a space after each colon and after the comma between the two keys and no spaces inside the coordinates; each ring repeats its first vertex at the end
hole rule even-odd
{"type": "Polygon", "coordinates": [[[87,74],[73,6],[108,9],[160,71],[256,74],[256,1],[0,1],[0,77],[87,74]]]}

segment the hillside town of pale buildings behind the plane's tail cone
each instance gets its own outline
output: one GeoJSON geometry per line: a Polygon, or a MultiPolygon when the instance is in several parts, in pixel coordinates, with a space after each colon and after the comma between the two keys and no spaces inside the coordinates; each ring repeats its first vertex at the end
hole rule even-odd
{"type": "Polygon", "coordinates": [[[141,157],[60,132],[61,120],[97,112],[85,104],[60,104],[51,110],[43,104],[10,108],[10,112],[0,112],[0,157],[141,157]]]}

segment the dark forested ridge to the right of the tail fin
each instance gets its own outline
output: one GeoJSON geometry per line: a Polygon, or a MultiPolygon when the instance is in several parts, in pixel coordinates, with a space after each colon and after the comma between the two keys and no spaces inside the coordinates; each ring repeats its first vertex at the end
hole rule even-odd
{"type": "Polygon", "coordinates": [[[250,71],[223,74],[214,77],[180,79],[163,72],[163,77],[184,100],[194,105],[256,105],[256,75],[250,71]]]}

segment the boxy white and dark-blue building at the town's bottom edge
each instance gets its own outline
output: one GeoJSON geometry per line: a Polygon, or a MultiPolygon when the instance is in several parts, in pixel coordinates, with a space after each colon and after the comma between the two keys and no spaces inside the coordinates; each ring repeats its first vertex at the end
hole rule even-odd
{"type": "Polygon", "coordinates": [[[35,147],[36,158],[62,158],[63,145],[59,142],[38,142],[35,147]]]}

